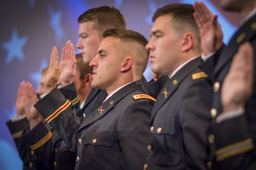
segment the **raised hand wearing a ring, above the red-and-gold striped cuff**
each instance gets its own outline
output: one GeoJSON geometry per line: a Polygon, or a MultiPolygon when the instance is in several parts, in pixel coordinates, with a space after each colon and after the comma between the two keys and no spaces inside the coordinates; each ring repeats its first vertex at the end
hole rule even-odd
{"type": "Polygon", "coordinates": [[[49,93],[56,87],[60,73],[61,73],[61,69],[59,65],[57,48],[53,47],[51,58],[50,58],[49,69],[44,81],[44,88],[46,93],[49,93]]]}

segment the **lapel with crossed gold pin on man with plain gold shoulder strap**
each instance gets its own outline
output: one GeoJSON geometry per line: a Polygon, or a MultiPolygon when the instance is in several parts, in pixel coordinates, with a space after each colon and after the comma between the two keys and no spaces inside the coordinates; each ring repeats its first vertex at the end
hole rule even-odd
{"type": "Polygon", "coordinates": [[[156,103],[152,108],[152,114],[150,118],[150,124],[154,120],[155,114],[163,106],[163,104],[173,95],[173,93],[179,87],[182,80],[193,71],[201,63],[201,58],[197,57],[194,60],[183,66],[170,80],[165,83],[163,88],[159,91],[156,98],[156,103]]]}

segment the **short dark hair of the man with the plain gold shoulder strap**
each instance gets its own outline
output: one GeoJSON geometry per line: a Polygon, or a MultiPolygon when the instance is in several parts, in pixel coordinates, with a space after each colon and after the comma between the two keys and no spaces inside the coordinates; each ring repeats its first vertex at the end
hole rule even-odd
{"type": "Polygon", "coordinates": [[[200,35],[193,16],[194,12],[195,10],[192,5],[173,3],[157,9],[152,17],[152,21],[155,22],[155,20],[162,15],[171,15],[173,17],[171,27],[174,28],[179,35],[192,32],[195,36],[196,46],[200,50],[200,35]]]}

